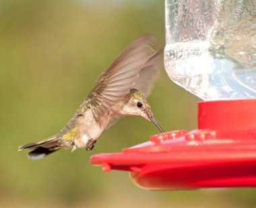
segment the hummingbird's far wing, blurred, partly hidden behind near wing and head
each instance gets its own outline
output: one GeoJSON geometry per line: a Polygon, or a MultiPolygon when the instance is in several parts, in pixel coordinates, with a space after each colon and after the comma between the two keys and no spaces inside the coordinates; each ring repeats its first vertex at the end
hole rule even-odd
{"type": "MultiPolygon", "coordinates": [[[[154,53],[150,58],[146,61],[145,66],[141,69],[139,73],[139,79],[137,79],[135,85],[133,88],[136,88],[140,92],[142,92],[146,97],[150,95],[150,92],[154,86],[154,82],[156,79],[158,79],[160,75],[160,65],[163,63],[163,51],[164,48],[158,50],[156,53],[154,53]]],[[[105,129],[109,129],[120,118],[123,118],[125,116],[115,115],[110,118],[108,121],[108,125],[106,125],[105,129]]]]}

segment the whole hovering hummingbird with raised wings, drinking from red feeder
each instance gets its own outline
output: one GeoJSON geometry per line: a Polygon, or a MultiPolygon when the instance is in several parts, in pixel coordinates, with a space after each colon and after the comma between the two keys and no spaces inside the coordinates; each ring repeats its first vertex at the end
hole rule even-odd
{"type": "Polygon", "coordinates": [[[28,153],[32,160],[59,149],[92,150],[102,131],[122,116],[142,116],[163,133],[146,101],[158,77],[163,52],[161,49],[153,53],[153,40],[146,34],[129,44],[98,77],[92,91],[61,131],[42,141],[22,145],[18,150],[32,149],[28,153]]]}

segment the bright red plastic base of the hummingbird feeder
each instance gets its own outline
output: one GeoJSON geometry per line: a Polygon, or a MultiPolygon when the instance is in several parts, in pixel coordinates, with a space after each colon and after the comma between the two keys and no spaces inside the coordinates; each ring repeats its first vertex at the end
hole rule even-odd
{"type": "Polygon", "coordinates": [[[153,135],[122,153],[92,155],[152,190],[256,186],[256,99],[199,102],[199,129],[153,135]]]}

